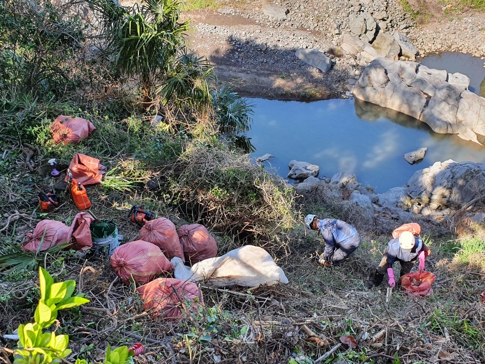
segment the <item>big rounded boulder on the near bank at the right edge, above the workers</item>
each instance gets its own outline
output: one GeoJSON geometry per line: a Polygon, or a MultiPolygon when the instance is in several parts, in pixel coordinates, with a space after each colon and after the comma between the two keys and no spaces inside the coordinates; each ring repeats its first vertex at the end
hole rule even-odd
{"type": "Polygon", "coordinates": [[[407,192],[431,209],[461,208],[485,193],[485,163],[436,162],[413,174],[407,192]]]}

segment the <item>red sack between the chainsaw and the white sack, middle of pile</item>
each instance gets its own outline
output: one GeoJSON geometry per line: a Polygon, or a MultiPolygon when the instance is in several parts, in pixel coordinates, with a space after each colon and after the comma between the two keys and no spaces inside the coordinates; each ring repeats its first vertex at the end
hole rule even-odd
{"type": "Polygon", "coordinates": [[[185,261],[175,225],[165,217],[147,221],[140,229],[139,239],[158,246],[168,259],[178,256],[182,261],[185,261]]]}

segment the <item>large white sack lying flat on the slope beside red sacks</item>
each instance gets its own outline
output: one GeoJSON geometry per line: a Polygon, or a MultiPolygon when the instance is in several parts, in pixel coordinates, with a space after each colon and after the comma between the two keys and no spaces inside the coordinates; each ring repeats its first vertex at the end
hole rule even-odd
{"type": "Polygon", "coordinates": [[[175,267],[175,278],[190,282],[205,281],[215,287],[288,283],[283,269],[276,265],[271,255],[253,245],[231,250],[221,257],[202,260],[191,268],[183,265],[178,257],[173,257],[170,262],[175,267]]]}

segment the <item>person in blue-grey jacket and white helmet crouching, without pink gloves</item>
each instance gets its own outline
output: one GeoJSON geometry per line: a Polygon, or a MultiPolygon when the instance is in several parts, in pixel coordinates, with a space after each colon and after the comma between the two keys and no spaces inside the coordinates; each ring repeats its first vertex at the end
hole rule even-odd
{"type": "Polygon", "coordinates": [[[319,219],[316,215],[305,217],[305,227],[318,230],[325,242],[319,262],[336,265],[347,259],[359,246],[360,235],[351,224],[338,219],[319,219]]]}

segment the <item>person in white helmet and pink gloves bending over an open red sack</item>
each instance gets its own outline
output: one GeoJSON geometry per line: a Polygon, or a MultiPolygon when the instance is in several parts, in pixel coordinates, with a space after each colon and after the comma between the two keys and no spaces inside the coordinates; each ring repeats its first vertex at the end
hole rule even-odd
{"type": "Polygon", "coordinates": [[[389,277],[389,285],[396,286],[393,264],[399,261],[401,265],[400,277],[409,273],[416,260],[419,260],[419,270],[424,270],[424,260],[431,254],[431,250],[423,243],[421,238],[405,231],[387,243],[387,247],[379,265],[370,275],[367,287],[372,288],[382,283],[385,273],[389,277]]]}

